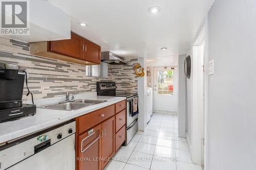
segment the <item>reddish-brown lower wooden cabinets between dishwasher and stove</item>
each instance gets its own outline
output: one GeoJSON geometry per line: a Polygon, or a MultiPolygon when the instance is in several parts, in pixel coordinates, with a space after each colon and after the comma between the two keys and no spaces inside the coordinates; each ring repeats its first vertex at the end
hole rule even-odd
{"type": "Polygon", "coordinates": [[[116,114],[113,104],[76,118],[77,170],[101,170],[108,164],[126,138],[125,113],[124,107],[116,114]],[[116,124],[117,119],[122,121],[116,124]]]}

